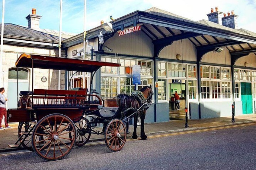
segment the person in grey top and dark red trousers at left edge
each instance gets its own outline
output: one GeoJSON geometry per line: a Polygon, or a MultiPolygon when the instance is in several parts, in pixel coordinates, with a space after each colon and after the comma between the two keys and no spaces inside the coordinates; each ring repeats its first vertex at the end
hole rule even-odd
{"type": "Polygon", "coordinates": [[[8,99],[5,97],[4,93],[5,93],[5,88],[3,87],[0,88],[0,130],[12,128],[7,123],[7,110],[6,110],[5,104],[8,101],[8,99]],[[3,116],[5,116],[5,128],[2,127],[3,116]]]}

